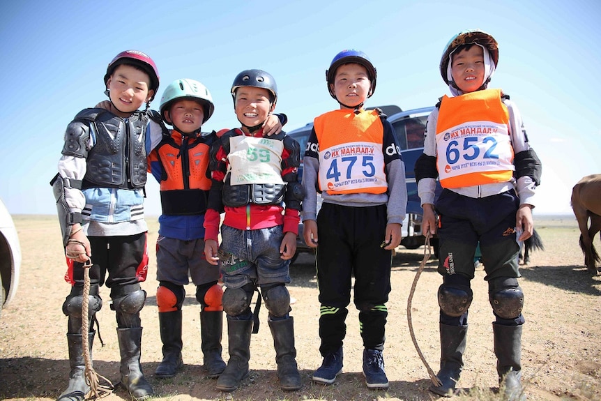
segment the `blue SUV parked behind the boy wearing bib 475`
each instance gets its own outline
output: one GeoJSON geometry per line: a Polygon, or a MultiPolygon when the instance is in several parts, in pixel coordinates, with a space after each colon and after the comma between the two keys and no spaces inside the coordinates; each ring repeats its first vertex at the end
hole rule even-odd
{"type": "MultiPolygon", "coordinates": [[[[388,116],[388,121],[395,128],[395,134],[397,135],[397,141],[401,148],[403,160],[405,162],[405,181],[407,185],[407,214],[403,221],[402,235],[403,239],[401,245],[407,249],[416,249],[425,243],[425,236],[422,235],[422,220],[423,220],[423,209],[418,196],[418,184],[416,182],[416,174],[413,172],[413,167],[416,164],[416,160],[423,153],[424,146],[424,131],[426,128],[427,117],[434,107],[424,107],[422,109],[412,109],[402,111],[400,107],[395,105],[392,106],[380,106],[384,114],[388,116]]],[[[300,144],[300,168],[298,169],[299,179],[303,176],[303,156],[305,155],[304,149],[307,147],[307,139],[313,128],[313,123],[308,123],[306,126],[297,128],[288,133],[291,137],[296,139],[296,142],[300,144]]],[[[442,188],[440,184],[436,186],[436,197],[440,195],[442,188]]],[[[317,199],[317,207],[320,206],[320,199],[317,199]]],[[[434,237],[431,239],[432,248],[434,255],[438,257],[438,239],[434,237]]],[[[314,248],[310,248],[305,244],[303,240],[303,224],[300,223],[298,227],[298,237],[296,239],[296,255],[298,252],[313,252],[314,248]]],[[[293,259],[294,262],[294,259],[293,259]]]]}

